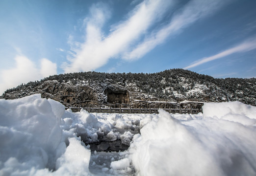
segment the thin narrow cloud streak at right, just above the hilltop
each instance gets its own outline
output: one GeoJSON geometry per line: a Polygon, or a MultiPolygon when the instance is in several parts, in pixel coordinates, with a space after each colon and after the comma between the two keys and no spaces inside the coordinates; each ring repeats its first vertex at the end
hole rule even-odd
{"type": "Polygon", "coordinates": [[[199,65],[205,64],[207,62],[210,62],[210,61],[213,61],[216,59],[220,59],[220,58],[226,57],[228,55],[231,55],[231,54],[234,54],[237,52],[246,52],[246,51],[250,51],[253,49],[256,49],[256,38],[246,40],[245,42],[242,42],[241,44],[238,44],[238,45],[236,45],[232,48],[229,48],[225,51],[222,51],[218,54],[198,60],[198,61],[192,63],[191,65],[184,67],[184,69],[189,69],[189,68],[192,68],[195,66],[199,66],[199,65]]]}

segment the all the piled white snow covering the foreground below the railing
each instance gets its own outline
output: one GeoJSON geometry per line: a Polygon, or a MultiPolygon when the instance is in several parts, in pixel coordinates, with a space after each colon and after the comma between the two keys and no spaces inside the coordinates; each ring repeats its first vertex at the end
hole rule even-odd
{"type": "Polygon", "coordinates": [[[255,176],[256,107],[206,103],[203,111],[73,113],[40,94],[1,99],[0,176],[255,176]],[[91,152],[87,144],[99,140],[129,148],[91,152]]]}

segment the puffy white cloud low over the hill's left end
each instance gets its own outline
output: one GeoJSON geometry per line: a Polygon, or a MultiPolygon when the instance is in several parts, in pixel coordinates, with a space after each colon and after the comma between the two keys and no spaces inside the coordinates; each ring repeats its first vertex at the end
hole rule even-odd
{"type": "Polygon", "coordinates": [[[26,56],[15,57],[15,67],[0,71],[0,93],[8,88],[17,87],[22,83],[40,80],[44,77],[57,74],[57,66],[48,59],[41,60],[41,67],[30,61],[26,56]]]}

